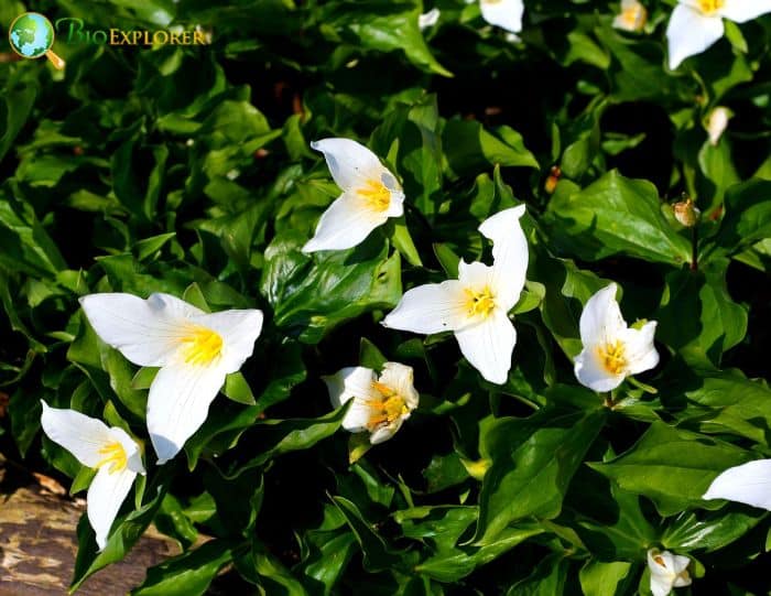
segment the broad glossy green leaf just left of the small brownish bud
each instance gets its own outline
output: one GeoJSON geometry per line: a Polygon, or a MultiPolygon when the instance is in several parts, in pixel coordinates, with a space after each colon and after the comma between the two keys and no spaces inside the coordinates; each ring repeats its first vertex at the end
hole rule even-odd
{"type": "Polygon", "coordinates": [[[580,259],[621,253],[674,267],[691,260],[689,242],[662,214],[655,186],[616,171],[578,193],[555,194],[544,221],[561,250],[580,259]]]}

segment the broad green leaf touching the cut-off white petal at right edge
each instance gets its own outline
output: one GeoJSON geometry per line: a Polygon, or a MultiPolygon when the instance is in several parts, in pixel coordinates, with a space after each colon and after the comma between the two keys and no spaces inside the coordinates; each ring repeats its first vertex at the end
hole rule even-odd
{"type": "Polygon", "coordinates": [[[662,516],[672,516],[688,507],[714,509],[716,502],[707,506],[702,495],[718,474],[750,458],[728,443],[654,422],[622,455],[589,465],[623,490],[651,499],[662,516]]]}

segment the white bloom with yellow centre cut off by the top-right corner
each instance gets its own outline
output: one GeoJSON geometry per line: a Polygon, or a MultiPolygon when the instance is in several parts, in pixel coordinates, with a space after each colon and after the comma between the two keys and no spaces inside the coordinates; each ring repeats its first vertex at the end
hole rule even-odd
{"type": "Polygon", "coordinates": [[[670,68],[723,37],[723,19],[743,23],[771,12],[771,0],[680,0],[666,28],[670,68]]]}

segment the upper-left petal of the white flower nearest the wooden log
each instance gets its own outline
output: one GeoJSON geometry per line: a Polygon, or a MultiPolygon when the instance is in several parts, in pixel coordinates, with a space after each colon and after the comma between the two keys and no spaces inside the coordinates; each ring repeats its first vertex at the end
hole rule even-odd
{"type": "Polygon", "coordinates": [[[75,410],[51,408],[42,400],[41,403],[41,424],[48,438],[72,453],[84,466],[96,467],[105,457],[99,449],[113,442],[107,424],[75,410]]]}

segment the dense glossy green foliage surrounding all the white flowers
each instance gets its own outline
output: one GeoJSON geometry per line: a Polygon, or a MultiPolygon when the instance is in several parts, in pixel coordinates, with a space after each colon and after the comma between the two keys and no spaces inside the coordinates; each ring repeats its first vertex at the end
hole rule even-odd
{"type": "Polygon", "coordinates": [[[104,552],[82,522],[73,586],[154,522],[183,554],[135,595],[203,594],[225,568],[269,595],[648,594],[651,546],[691,556],[715,593],[764,593],[765,512],[701,496],[771,455],[759,379],[771,19],[729,26],[672,73],[673,4],[648,2],[647,31],[627,34],[610,25],[617,2],[525,2],[512,41],[463,0],[3,2],[2,23],[37,10],[89,29],[199,26],[213,41],[59,41],[64,72],[0,69],[6,456],[87,486],[89,470],[42,437],[41,399],[146,436],[149,379],[97,339],[79,296],[164,291],[267,314],[242,376],[184,457],[150,469],[104,552]],[[421,31],[434,6],[438,24],[421,31]],[[734,118],[713,145],[717,105],[734,118]],[[324,137],[382,156],[406,212],[312,257],[300,247],[338,194],[308,147],[324,137]],[[683,193],[704,214],[695,231],[673,216],[683,193]],[[511,375],[493,386],[452,335],[378,322],[403,290],[489,251],[477,226],[514,196],[530,281],[511,375]],[[582,305],[609,280],[628,319],[659,322],[662,355],[612,409],[572,366],[582,305]],[[421,405],[350,465],[344,410],[319,377],[384,359],[415,369],[421,405]]]}

